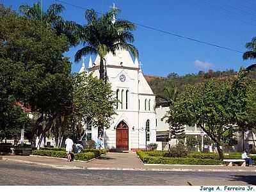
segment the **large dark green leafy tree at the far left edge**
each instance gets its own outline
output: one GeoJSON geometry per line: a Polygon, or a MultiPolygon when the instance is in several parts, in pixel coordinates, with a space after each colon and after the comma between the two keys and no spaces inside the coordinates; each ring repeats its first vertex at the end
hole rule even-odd
{"type": "Polygon", "coordinates": [[[67,37],[4,6],[0,15],[0,55],[19,74],[8,94],[38,113],[35,134],[41,142],[56,118],[72,111],[71,63],[63,58],[67,37]]]}

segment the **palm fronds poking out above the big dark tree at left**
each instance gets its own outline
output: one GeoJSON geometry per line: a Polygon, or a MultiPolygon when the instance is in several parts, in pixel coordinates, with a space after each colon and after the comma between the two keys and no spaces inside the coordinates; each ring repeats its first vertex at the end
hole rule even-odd
{"type": "Polygon", "coordinates": [[[51,28],[56,31],[57,35],[64,34],[67,36],[70,46],[78,44],[77,33],[81,26],[76,24],[76,22],[64,20],[63,17],[61,17],[61,13],[65,10],[62,4],[51,4],[46,12],[42,12],[39,2],[33,4],[33,6],[22,4],[19,10],[20,13],[28,19],[42,20],[42,22],[51,26],[51,28]]]}

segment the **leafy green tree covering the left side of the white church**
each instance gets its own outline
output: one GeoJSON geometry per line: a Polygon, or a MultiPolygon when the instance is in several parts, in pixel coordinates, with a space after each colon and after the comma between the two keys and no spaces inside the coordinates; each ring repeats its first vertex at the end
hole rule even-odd
{"type": "Polygon", "coordinates": [[[100,134],[103,134],[102,127],[108,129],[111,116],[115,115],[115,97],[109,83],[104,84],[102,79],[86,75],[74,74],[74,114],[78,122],[83,122],[87,128],[99,127],[100,134]]]}

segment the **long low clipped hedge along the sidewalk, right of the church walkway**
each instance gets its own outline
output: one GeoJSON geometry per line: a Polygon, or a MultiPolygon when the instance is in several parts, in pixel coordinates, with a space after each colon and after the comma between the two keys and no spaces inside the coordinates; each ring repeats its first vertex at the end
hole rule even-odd
{"type": "Polygon", "coordinates": [[[196,159],[191,157],[163,157],[163,156],[149,156],[146,152],[137,152],[143,163],[148,164],[202,164],[213,165],[223,164],[223,161],[216,159],[196,159]]]}

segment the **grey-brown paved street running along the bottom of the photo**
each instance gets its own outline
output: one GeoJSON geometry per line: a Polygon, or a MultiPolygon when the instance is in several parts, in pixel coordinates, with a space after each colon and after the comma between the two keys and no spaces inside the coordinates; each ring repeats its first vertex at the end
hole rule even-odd
{"type": "Polygon", "coordinates": [[[64,170],[1,160],[1,185],[248,185],[251,172],[64,170]]]}

